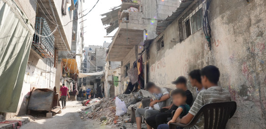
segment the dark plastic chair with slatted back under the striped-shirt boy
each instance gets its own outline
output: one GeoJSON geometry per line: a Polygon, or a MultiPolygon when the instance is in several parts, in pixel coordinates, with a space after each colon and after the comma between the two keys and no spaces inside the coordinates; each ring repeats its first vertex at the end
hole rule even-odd
{"type": "Polygon", "coordinates": [[[193,127],[201,117],[204,115],[204,129],[225,129],[228,120],[233,116],[236,110],[236,103],[208,103],[203,105],[199,112],[194,116],[188,124],[170,123],[169,129],[176,129],[176,126],[190,128],[193,127]]]}

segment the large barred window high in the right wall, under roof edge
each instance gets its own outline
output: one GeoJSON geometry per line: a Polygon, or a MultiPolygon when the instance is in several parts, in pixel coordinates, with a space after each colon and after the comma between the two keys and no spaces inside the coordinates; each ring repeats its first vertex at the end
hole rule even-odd
{"type": "Polygon", "coordinates": [[[205,1],[198,2],[179,20],[180,40],[186,39],[202,27],[205,1]]]}

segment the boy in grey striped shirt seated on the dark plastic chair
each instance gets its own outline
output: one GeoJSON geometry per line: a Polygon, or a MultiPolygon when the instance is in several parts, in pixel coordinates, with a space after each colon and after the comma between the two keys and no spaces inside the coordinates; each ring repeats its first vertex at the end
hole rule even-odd
{"type": "MultiPolygon", "coordinates": [[[[199,109],[207,103],[221,103],[231,101],[231,95],[228,90],[217,86],[220,71],[217,67],[209,65],[201,69],[201,83],[206,90],[199,92],[195,102],[193,103],[189,113],[178,119],[178,123],[188,124],[198,113],[199,109]]],[[[204,129],[204,117],[199,118],[196,125],[190,129],[204,129]]]]}

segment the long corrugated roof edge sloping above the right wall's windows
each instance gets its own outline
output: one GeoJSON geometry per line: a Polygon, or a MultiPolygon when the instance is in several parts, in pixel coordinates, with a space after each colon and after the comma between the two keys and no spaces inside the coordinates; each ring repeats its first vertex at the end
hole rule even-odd
{"type": "Polygon", "coordinates": [[[157,24],[156,34],[160,35],[194,0],[185,0],[180,3],[179,7],[170,17],[167,17],[164,21],[157,24]]]}

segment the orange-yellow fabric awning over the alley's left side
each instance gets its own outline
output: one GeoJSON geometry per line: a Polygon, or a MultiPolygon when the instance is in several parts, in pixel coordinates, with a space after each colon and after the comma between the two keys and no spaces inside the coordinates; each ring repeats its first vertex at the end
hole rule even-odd
{"type": "Polygon", "coordinates": [[[62,59],[63,67],[65,68],[66,72],[70,72],[71,74],[78,74],[78,65],[76,59],[62,59]]]}

